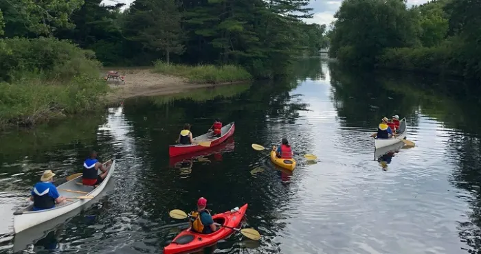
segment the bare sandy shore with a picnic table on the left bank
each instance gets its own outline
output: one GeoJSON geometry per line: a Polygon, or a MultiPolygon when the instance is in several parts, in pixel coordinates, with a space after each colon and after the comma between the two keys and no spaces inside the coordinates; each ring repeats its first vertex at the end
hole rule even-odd
{"type": "Polygon", "coordinates": [[[113,89],[107,94],[109,102],[118,102],[129,97],[166,95],[203,87],[234,84],[234,82],[192,84],[183,78],[152,73],[150,69],[118,69],[118,71],[121,76],[125,77],[125,84],[112,80],[108,81],[109,86],[113,89]]]}

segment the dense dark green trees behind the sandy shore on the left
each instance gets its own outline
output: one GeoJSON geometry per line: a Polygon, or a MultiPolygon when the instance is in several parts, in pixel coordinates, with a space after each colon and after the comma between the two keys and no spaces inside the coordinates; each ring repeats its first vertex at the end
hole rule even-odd
{"type": "Polygon", "coordinates": [[[296,56],[326,45],[326,26],[302,21],[309,0],[135,0],[124,11],[101,2],[0,1],[3,36],[68,39],[104,65],[229,64],[258,78],[283,75],[296,56]]]}

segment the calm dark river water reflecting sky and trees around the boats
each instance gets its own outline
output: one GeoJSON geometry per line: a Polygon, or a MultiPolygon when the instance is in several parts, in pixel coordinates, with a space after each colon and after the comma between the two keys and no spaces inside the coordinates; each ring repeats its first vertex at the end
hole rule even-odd
{"type": "Polygon", "coordinates": [[[480,93],[463,87],[312,58],[283,81],[139,97],[104,114],[3,132],[0,253],[159,253],[186,227],[168,211],[190,211],[200,196],[217,213],[249,203],[246,227],[262,235],[253,242],[234,234],[205,253],[477,253],[481,104],[480,93]],[[391,115],[407,118],[416,146],[375,154],[369,136],[391,115]],[[215,117],[236,123],[232,139],[190,163],[169,159],[184,123],[195,136],[215,117]],[[297,156],[289,174],[251,148],[282,137],[317,161],[297,156]],[[92,149],[117,157],[106,193],[88,209],[13,236],[12,212],[41,172],[53,169],[57,179],[80,172],[92,149]]]}

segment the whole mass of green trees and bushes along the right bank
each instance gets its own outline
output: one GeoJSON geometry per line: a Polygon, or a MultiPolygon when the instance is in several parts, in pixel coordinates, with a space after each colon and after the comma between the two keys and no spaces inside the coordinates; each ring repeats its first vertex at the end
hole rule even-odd
{"type": "Polygon", "coordinates": [[[349,65],[449,73],[481,80],[481,0],[345,0],[330,55],[349,65]],[[360,11],[362,10],[362,11],[360,11]]]}

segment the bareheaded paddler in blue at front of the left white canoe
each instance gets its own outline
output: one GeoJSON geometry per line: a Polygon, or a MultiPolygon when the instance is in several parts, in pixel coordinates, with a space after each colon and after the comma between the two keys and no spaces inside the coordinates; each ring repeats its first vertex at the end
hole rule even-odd
{"type": "MultiPolygon", "coordinates": [[[[107,167],[112,163],[107,162],[107,167]]],[[[105,177],[109,174],[109,170],[97,159],[97,152],[92,151],[90,157],[84,161],[84,169],[82,172],[82,184],[95,186],[104,181],[105,177]],[[98,174],[98,170],[102,171],[102,174],[98,174]]]]}

